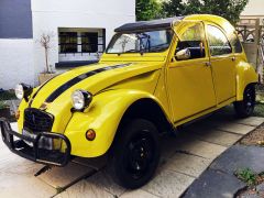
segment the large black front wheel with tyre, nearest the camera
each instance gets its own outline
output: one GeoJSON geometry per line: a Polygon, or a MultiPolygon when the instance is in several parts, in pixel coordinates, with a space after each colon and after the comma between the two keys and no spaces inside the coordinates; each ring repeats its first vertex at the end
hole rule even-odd
{"type": "Polygon", "coordinates": [[[110,174],[120,186],[139,188],[152,178],[160,162],[157,129],[147,120],[136,119],[117,135],[110,174]]]}

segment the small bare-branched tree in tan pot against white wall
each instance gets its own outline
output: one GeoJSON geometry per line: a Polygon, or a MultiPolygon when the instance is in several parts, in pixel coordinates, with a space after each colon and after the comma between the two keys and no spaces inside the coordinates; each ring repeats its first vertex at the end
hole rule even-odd
{"type": "Polygon", "coordinates": [[[38,75],[40,84],[43,84],[55,76],[55,73],[52,70],[52,66],[48,64],[48,51],[51,48],[52,37],[52,34],[43,33],[38,41],[45,53],[45,70],[38,75]]]}

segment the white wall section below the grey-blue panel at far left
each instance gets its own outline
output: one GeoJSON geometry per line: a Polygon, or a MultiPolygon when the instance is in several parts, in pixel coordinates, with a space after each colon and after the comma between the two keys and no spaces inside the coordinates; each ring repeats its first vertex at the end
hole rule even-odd
{"type": "Polygon", "coordinates": [[[34,84],[33,41],[0,40],[0,88],[13,89],[18,82],[34,84]]]}

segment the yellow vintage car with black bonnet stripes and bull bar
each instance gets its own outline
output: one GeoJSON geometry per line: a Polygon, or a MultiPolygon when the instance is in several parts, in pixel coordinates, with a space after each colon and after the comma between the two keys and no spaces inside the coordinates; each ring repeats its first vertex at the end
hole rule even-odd
{"type": "Polygon", "coordinates": [[[12,152],[43,164],[108,154],[118,184],[138,188],[154,175],[163,132],[230,103],[251,116],[257,81],[223,18],[129,23],[116,29],[98,64],[36,88],[18,85],[19,132],[2,119],[1,133],[12,152]]]}

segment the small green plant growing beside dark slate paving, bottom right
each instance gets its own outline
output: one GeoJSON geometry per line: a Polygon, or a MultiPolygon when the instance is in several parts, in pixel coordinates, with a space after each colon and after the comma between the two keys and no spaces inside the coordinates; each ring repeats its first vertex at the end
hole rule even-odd
{"type": "Polygon", "coordinates": [[[250,168],[238,169],[235,175],[239,179],[246,183],[248,186],[253,186],[257,183],[257,174],[250,168]]]}

